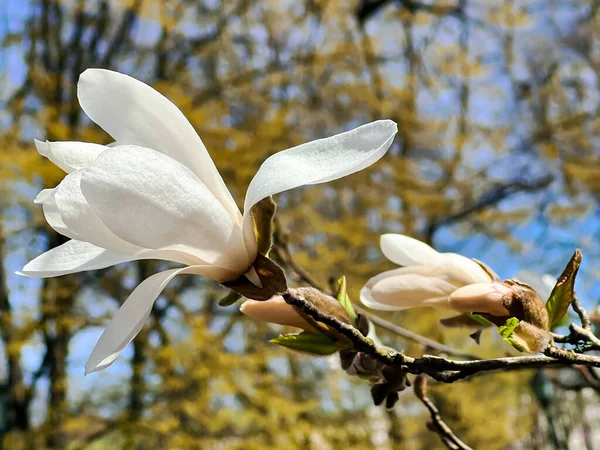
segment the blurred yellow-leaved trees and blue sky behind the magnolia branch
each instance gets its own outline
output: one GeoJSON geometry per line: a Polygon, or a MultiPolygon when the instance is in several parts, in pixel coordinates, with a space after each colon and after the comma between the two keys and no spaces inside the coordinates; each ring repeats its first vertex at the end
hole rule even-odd
{"type": "MultiPolygon", "coordinates": [[[[218,308],[224,289],[200,277],[171,282],[122,357],[83,377],[110,314],[164,265],[14,275],[65,239],[32,202],[63,176],[33,138],[110,142],[79,108],[83,70],[119,70],[169,97],[239,202],[268,155],[397,121],[392,150],[372,168],[277,198],[280,244],[325,286],[346,274],[354,300],[368,277],[393,267],[379,235],[401,232],[503,277],[557,276],[580,247],[578,293],[591,309],[600,295],[599,30],[597,0],[2,0],[2,448],[441,445],[410,390],[391,411],[373,407],[367,384],[335,358],[269,344],[280,327],[218,308]]],[[[481,356],[512,352],[495,333],[477,346],[441,329],[437,312],[385,317],[481,356]]],[[[409,354],[427,351],[379,334],[409,354]]],[[[600,449],[592,378],[489,374],[432,384],[431,395],[473,448],[600,449]]]]}

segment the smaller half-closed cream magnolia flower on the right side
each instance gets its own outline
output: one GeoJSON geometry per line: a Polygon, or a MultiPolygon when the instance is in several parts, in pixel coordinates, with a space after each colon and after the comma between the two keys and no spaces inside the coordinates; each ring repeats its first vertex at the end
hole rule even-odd
{"type": "MultiPolygon", "coordinates": [[[[381,273],[367,282],[360,299],[369,308],[399,311],[432,306],[464,312],[460,304],[464,298],[451,300],[451,294],[464,286],[494,281],[472,259],[456,253],[439,253],[408,236],[384,234],[380,245],[386,258],[404,267],[381,273]]],[[[478,306],[483,308],[479,312],[498,312],[496,305],[478,306]]]]}

